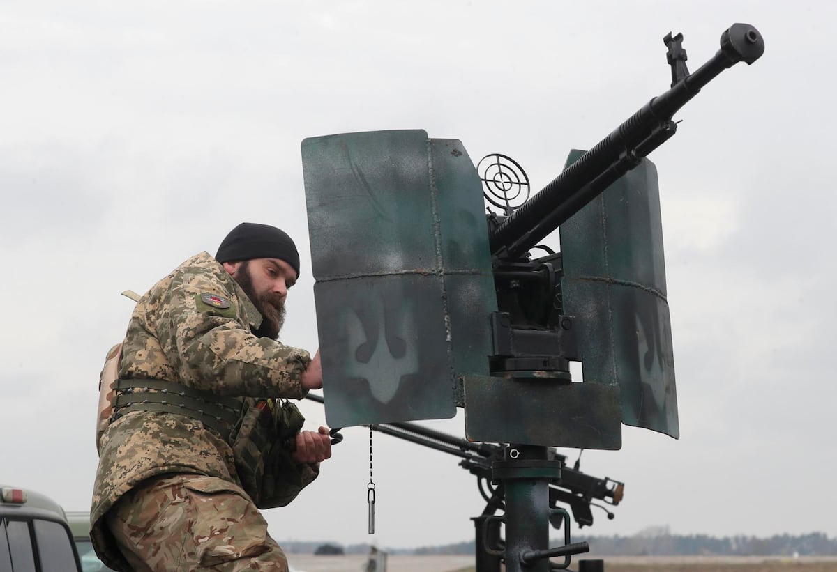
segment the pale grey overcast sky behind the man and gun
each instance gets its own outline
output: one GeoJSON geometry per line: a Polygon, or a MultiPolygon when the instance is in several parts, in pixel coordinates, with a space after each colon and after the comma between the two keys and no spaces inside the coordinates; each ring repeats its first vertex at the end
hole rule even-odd
{"type": "MultiPolygon", "coordinates": [[[[133,304],[242,221],[303,259],[283,339],[317,346],[300,142],[424,129],[533,188],[668,88],[732,23],[767,44],[675,115],[655,151],[680,440],[624,427],[581,467],[626,483],[591,534],[837,535],[834,69],[825,2],[0,3],[0,482],[90,506],[97,383],[133,304]]],[[[306,402],[311,425],[321,406],[306,402]]],[[[464,434],[463,417],[435,421],[464,434]]],[[[473,538],[475,478],[444,453],[346,441],[276,539],[390,547],[473,538]]],[[[573,459],[576,452],[563,450],[573,459]]]]}

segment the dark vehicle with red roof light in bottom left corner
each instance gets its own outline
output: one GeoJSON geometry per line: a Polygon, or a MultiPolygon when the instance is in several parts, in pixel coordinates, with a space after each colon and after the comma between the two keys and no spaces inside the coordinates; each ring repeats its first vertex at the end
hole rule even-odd
{"type": "Polygon", "coordinates": [[[59,503],[25,488],[0,486],[0,570],[81,570],[59,503]]]}

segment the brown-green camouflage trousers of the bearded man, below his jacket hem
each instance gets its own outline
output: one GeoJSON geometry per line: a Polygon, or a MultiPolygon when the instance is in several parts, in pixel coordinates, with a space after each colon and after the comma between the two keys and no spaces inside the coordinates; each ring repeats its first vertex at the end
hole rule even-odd
{"type": "Polygon", "coordinates": [[[150,478],[105,515],[131,569],[288,572],[267,522],[234,483],[202,475],[150,478]]]}

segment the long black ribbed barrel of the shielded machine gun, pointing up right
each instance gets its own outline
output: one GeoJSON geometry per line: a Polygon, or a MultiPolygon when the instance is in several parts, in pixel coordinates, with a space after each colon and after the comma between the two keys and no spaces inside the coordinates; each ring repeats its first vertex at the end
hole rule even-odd
{"type": "Polygon", "coordinates": [[[721,49],[693,74],[653,98],[610,135],[568,166],[540,192],[490,232],[491,253],[519,258],[614,181],[675,134],[671,120],[686,102],[724,69],[748,65],[764,53],[764,41],[749,24],[733,24],[721,34],[721,49]],[[544,213],[547,213],[544,216],[544,213]]]}

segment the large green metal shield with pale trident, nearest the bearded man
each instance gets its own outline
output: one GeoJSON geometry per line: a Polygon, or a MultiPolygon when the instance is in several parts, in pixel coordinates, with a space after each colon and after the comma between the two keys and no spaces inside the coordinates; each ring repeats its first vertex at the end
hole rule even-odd
{"type": "Polygon", "coordinates": [[[306,139],[302,161],[329,424],[454,416],[496,310],[465,149],[377,131],[306,139]]]}

